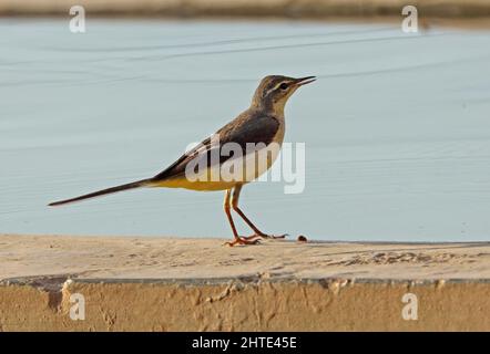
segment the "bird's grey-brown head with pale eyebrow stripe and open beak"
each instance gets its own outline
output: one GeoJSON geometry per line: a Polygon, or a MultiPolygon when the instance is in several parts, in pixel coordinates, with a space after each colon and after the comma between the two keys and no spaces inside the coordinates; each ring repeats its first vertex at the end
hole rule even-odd
{"type": "Polygon", "coordinates": [[[255,90],[252,98],[252,106],[256,108],[264,108],[275,113],[284,113],[284,106],[293,93],[299,86],[309,84],[316,80],[315,76],[306,76],[294,79],[280,75],[265,76],[257,90],[255,90]]]}

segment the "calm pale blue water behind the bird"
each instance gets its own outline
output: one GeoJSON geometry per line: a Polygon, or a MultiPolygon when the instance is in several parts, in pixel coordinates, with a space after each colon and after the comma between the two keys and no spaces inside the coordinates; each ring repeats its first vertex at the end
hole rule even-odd
{"type": "Polygon", "coordinates": [[[488,31],[89,19],[72,34],[68,20],[3,19],[0,33],[1,232],[229,237],[222,192],[45,205],[156,174],[274,73],[319,80],[286,110],[286,140],[306,143],[305,191],[242,194],[262,229],[490,240],[488,31]]]}

